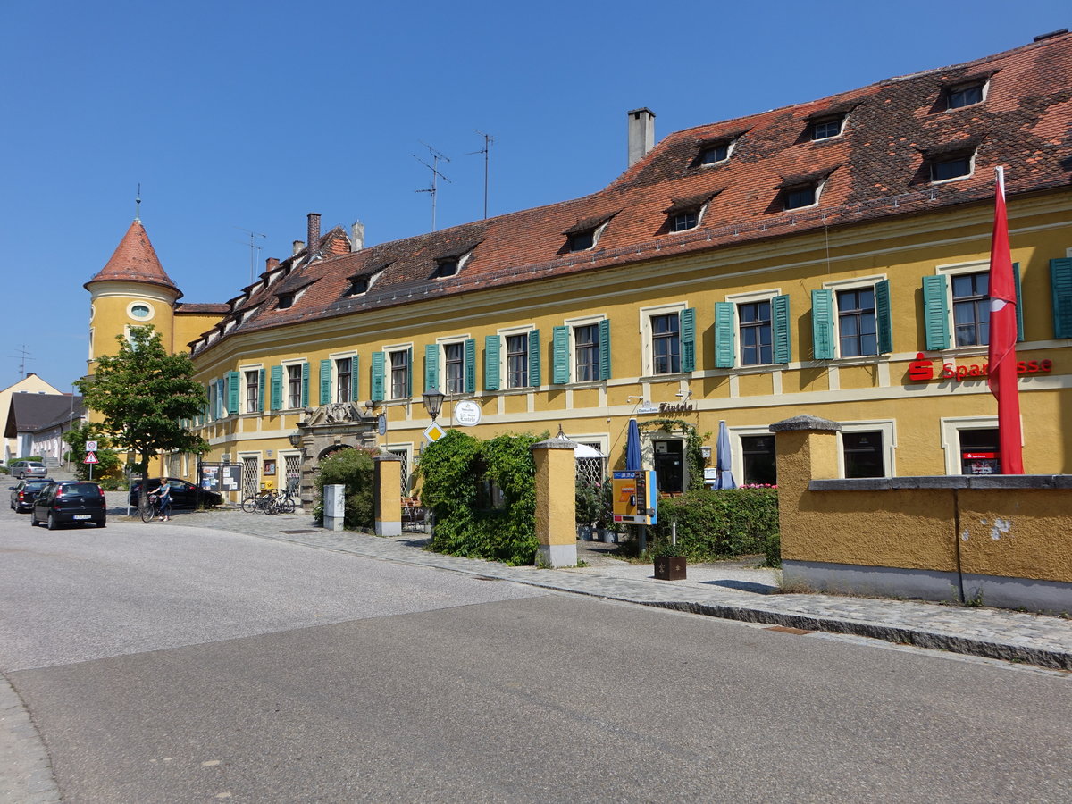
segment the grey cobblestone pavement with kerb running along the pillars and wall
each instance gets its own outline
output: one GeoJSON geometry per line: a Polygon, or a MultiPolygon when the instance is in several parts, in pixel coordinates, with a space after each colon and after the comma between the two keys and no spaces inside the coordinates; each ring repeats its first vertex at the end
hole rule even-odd
{"type": "MultiPolygon", "coordinates": [[[[114,509],[113,516],[123,510],[114,509]]],[[[607,553],[612,546],[600,542],[578,542],[578,556],[590,566],[539,569],[433,553],[423,549],[423,534],[381,538],[324,531],[303,513],[266,517],[219,509],[177,516],[184,525],[218,527],[560,592],[1072,670],[1072,620],[915,600],[776,594],[778,572],[749,566],[748,562],[691,565],[687,580],[659,581],[651,565],[610,557],[607,553]]],[[[147,526],[167,527],[167,523],[147,526]]]]}

